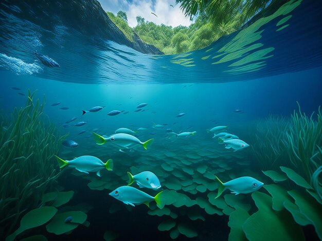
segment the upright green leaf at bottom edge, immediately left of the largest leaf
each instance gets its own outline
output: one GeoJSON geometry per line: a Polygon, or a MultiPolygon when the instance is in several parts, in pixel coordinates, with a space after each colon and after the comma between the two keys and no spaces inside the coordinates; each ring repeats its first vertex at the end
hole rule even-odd
{"type": "Polygon", "coordinates": [[[235,211],[232,211],[229,215],[228,226],[230,227],[230,233],[228,236],[228,241],[247,240],[243,231],[243,224],[248,217],[249,214],[246,210],[239,206],[235,206],[235,211]]]}

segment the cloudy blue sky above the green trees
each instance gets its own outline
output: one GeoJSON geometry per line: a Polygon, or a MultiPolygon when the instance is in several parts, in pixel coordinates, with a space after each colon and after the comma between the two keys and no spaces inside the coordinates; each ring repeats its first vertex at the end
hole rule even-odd
{"type": "Polygon", "coordinates": [[[189,26],[190,18],[185,17],[175,0],[98,0],[105,11],[115,15],[119,10],[127,13],[130,27],[137,25],[136,16],[141,16],[146,21],[157,25],[165,24],[176,27],[179,25],[189,26]],[[172,8],[170,5],[173,5],[172,8]],[[151,12],[157,15],[154,16],[151,12]]]}

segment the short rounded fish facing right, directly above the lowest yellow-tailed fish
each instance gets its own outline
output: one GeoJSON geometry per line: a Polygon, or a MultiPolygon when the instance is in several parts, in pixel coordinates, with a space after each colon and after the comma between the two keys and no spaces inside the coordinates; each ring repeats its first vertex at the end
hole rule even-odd
{"type": "Polygon", "coordinates": [[[139,188],[151,188],[153,190],[158,190],[159,188],[161,188],[160,181],[153,172],[144,171],[134,176],[130,172],[128,172],[128,176],[128,186],[130,186],[135,181],[139,188]]]}

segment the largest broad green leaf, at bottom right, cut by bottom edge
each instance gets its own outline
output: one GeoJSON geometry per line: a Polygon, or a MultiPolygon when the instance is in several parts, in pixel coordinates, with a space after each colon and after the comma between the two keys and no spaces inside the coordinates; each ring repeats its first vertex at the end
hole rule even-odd
{"type": "Polygon", "coordinates": [[[274,211],[272,197],[256,191],[252,198],[258,211],[247,218],[243,225],[244,233],[249,240],[272,241],[305,240],[300,226],[294,222],[292,215],[286,211],[274,211]]]}

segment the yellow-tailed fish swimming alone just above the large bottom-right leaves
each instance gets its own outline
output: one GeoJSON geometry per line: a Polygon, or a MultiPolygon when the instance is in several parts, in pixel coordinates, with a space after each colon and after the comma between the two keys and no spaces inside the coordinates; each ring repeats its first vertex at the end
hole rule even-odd
{"type": "Polygon", "coordinates": [[[254,177],[250,176],[238,177],[230,180],[227,183],[222,183],[221,180],[216,176],[216,181],[219,187],[217,197],[219,197],[226,189],[229,189],[231,193],[238,195],[239,193],[255,192],[264,185],[262,182],[259,182],[259,180],[256,180],[254,177]]]}

